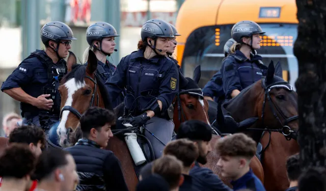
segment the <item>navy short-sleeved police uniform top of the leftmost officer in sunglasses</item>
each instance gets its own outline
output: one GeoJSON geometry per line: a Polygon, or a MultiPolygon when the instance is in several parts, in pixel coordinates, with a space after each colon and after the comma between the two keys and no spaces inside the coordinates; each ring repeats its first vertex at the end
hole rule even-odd
{"type": "MultiPolygon", "coordinates": [[[[61,78],[67,73],[67,63],[61,60],[54,64],[44,50],[36,50],[24,59],[19,66],[4,81],[1,91],[12,88],[21,88],[32,97],[37,98],[42,94],[51,94],[54,105],[51,114],[60,114],[61,97],[58,91],[61,78]],[[53,91],[55,90],[55,91],[53,91]]],[[[31,117],[37,116],[42,111],[28,104],[20,103],[21,115],[29,113],[31,117]]]]}

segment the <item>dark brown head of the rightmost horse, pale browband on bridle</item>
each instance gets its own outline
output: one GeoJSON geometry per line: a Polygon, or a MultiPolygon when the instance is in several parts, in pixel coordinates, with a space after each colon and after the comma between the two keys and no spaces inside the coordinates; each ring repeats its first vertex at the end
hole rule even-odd
{"type": "MultiPolygon", "coordinates": [[[[279,64],[279,63],[278,63],[279,64]]],[[[242,90],[224,107],[236,121],[258,117],[254,127],[267,128],[293,137],[298,128],[297,94],[283,78],[275,75],[273,62],[268,65],[267,75],[253,85],[242,90]]],[[[279,72],[278,72],[279,73],[279,72]]],[[[255,139],[260,139],[261,130],[242,129],[255,139]]]]}

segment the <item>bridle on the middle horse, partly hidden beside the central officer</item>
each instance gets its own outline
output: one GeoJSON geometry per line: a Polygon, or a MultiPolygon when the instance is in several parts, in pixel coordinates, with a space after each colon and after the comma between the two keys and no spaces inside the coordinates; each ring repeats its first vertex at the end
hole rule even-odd
{"type": "MultiPolygon", "coordinates": [[[[184,109],[182,109],[181,98],[180,98],[180,95],[183,95],[183,94],[199,96],[199,98],[201,98],[202,100],[204,100],[203,92],[202,92],[202,89],[200,89],[200,88],[188,89],[188,90],[180,90],[176,94],[175,101],[172,103],[173,107],[175,107],[175,103],[176,102],[178,103],[178,120],[180,121],[180,123],[186,121],[186,117],[185,117],[185,114],[184,114],[184,109]],[[183,117],[183,120],[182,120],[182,117],[183,117]]],[[[212,131],[215,134],[218,134],[219,135],[219,133],[216,132],[216,130],[213,127],[211,127],[211,129],[212,129],[212,131]]]]}

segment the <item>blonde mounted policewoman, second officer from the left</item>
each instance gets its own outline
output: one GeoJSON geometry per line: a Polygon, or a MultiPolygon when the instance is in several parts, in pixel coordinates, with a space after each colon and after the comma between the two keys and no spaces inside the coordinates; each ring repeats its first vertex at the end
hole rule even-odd
{"type": "MultiPolygon", "coordinates": [[[[119,36],[116,29],[107,22],[92,24],[86,31],[86,40],[90,47],[84,52],[83,63],[87,62],[89,49],[93,49],[98,60],[96,73],[103,79],[103,83],[116,71],[116,66],[106,60],[106,56],[110,57],[114,51],[117,51],[114,40],[119,36]]],[[[111,103],[113,108],[123,102],[124,95],[125,91],[111,103]]]]}

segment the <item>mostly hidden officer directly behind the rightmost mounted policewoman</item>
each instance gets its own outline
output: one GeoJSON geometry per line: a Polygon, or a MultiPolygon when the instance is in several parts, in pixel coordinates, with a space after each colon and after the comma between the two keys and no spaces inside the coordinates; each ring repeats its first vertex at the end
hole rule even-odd
{"type": "MultiPolygon", "coordinates": [[[[225,58],[231,53],[231,46],[235,43],[235,41],[230,38],[226,41],[224,45],[224,56],[225,58]]],[[[208,83],[203,88],[203,95],[204,98],[207,100],[215,101],[216,103],[219,100],[224,99],[224,91],[223,91],[223,83],[222,83],[222,76],[221,70],[216,72],[213,77],[208,81],[208,83]],[[213,99],[214,98],[214,99],[213,99]]]]}

